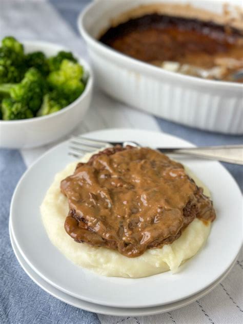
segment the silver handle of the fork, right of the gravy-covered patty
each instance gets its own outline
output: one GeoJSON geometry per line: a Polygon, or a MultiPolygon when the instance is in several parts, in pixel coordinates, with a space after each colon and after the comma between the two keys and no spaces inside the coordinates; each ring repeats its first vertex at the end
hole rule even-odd
{"type": "Polygon", "coordinates": [[[161,153],[193,155],[243,165],[243,145],[210,146],[200,148],[157,148],[157,150],[161,153]]]}

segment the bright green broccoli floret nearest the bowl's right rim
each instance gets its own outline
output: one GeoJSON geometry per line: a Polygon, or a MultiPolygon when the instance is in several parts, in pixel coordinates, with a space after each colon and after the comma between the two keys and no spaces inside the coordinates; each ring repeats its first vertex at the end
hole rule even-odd
{"type": "Polygon", "coordinates": [[[82,94],[85,85],[82,82],[84,70],[78,63],[64,59],[58,71],[48,75],[48,83],[52,89],[57,89],[63,96],[72,103],[82,94]]]}

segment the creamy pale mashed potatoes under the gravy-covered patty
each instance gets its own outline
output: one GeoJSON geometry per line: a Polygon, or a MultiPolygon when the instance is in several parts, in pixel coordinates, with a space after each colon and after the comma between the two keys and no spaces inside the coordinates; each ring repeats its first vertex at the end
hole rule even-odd
{"type": "MultiPolygon", "coordinates": [[[[92,154],[87,154],[80,161],[87,162],[92,154]]],[[[60,192],[60,181],[75,170],[77,162],[69,164],[56,174],[53,184],[48,189],[42,206],[42,220],[52,244],[74,264],[90,269],[104,276],[139,278],[157,273],[178,270],[187,259],[195,255],[204,245],[210,232],[210,222],[195,218],[172,244],[160,249],[147,250],[136,258],[128,258],[117,251],[104,247],[91,247],[75,242],[65,231],[64,222],[69,211],[67,197],[60,192]]],[[[204,193],[208,189],[189,170],[204,193]]]]}

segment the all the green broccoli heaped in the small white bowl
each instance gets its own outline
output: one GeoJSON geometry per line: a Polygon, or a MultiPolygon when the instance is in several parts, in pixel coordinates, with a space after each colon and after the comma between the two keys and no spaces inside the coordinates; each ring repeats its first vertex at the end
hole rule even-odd
{"type": "Polygon", "coordinates": [[[83,67],[71,52],[47,58],[24,53],[14,37],[0,47],[0,119],[44,116],[71,104],[85,89],[83,67]]]}

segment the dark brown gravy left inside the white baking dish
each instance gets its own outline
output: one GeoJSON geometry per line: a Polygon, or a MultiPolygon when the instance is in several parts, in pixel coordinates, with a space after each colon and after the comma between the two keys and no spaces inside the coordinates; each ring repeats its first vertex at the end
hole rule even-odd
{"type": "Polygon", "coordinates": [[[168,61],[202,69],[219,66],[222,80],[234,81],[232,75],[243,69],[242,33],[213,22],[153,13],[111,27],[99,40],[157,66],[168,61]]]}

